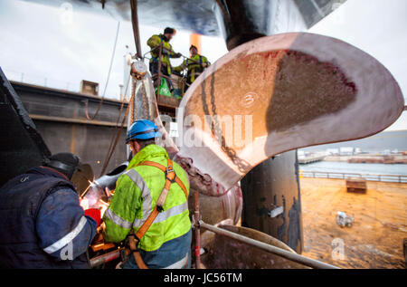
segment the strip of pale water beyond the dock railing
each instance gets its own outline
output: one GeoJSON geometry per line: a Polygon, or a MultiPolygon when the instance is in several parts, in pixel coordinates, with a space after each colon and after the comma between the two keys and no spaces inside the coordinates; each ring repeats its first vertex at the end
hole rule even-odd
{"type": "Polygon", "coordinates": [[[336,161],[318,161],[307,165],[299,165],[303,171],[327,171],[372,175],[407,176],[407,165],[402,164],[364,164],[336,161]]]}

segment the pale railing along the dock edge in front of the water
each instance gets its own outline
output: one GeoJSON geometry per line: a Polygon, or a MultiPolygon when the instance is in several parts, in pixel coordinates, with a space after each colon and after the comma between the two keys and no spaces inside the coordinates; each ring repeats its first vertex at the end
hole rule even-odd
{"type": "Polygon", "coordinates": [[[407,183],[407,176],[404,175],[375,175],[359,174],[331,171],[300,170],[299,177],[346,179],[348,177],[363,177],[369,181],[407,183]]]}

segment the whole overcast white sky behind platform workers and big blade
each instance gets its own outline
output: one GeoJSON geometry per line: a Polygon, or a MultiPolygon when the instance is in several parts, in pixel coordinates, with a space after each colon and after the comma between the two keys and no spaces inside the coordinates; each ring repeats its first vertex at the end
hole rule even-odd
{"type": "MultiPolygon", "coordinates": [[[[80,80],[99,82],[103,92],[118,22],[108,14],[73,9],[71,20],[62,8],[0,0],[0,66],[11,80],[79,91],[80,80]],[[24,73],[24,74],[22,74],[24,73]]],[[[310,29],[354,44],[372,54],[393,73],[407,95],[407,1],[347,0],[310,29]]],[[[142,50],[147,39],[164,27],[141,24],[142,50]]],[[[178,31],[171,42],[188,54],[189,35],[178,31]]],[[[123,82],[123,55],[134,52],[131,24],[120,22],[117,50],[106,96],[118,98],[123,82]]],[[[202,53],[215,62],[227,53],[222,38],[203,37],[202,53]]],[[[174,61],[174,64],[179,63],[174,61]]],[[[389,129],[407,129],[407,112],[389,129]]]]}

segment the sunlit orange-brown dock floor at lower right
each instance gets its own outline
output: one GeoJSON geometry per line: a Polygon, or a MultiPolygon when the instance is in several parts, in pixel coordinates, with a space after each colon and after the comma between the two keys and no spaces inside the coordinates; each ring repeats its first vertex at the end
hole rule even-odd
{"type": "Polygon", "coordinates": [[[343,179],[300,178],[300,187],[303,255],[341,268],[406,268],[407,184],[368,181],[366,194],[354,194],[343,179]],[[337,211],[354,225],[336,225],[337,211]]]}

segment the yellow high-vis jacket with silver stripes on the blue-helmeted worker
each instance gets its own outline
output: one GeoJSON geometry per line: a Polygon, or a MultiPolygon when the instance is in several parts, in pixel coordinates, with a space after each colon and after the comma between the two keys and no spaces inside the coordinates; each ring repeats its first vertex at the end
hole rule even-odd
{"type": "MultiPolygon", "coordinates": [[[[120,177],[111,199],[109,208],[103,216],[106,228],[104,237],[107,242],[121,242],[133,229],[137,230],[147,220],[156,206],[166,184],[165,173],[151,166],[137,166],[144,161],[155,161],[167,165],[168,154],[165,148],[148,145],[142,148],[128,165],[127,171],[120,177]]],[[[185,170],[173,162],[176,177],[185,185],[189,195],[189,182],[185,170]]],[[[189,232],[188,202],[185,193],[177,184],[172,184],[163,206],[164,211],[156,216],[156,220],[140,240],[140,248],[155,251],[167,241],[189,232]]]]}

